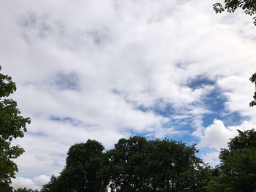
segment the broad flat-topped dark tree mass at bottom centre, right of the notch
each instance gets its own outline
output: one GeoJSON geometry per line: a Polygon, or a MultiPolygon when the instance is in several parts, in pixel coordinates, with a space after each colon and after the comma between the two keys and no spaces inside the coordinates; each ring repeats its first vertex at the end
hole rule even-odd
{"type": "Polygon", "coordinates": [[[120,139],[107,153],[111,191],[203,191],[210,174],[196,152],[181,142],[120,139]]]}

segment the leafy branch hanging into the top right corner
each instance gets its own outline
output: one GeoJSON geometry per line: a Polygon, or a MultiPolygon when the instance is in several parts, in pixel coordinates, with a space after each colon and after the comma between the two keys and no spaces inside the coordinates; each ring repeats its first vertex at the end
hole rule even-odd
{"type": "MultiPolygon", "coordinates": [[[[214,4],[214,11],[221,13],[227,11],[229,13],[235,12],[236,9],[243,9],[246,15],[255,15],[256,13],[256,0],[225,0],[224,6],[221,3],[214,4]]],[[[256,17],[254,18],[256,26],[256,17]]]]}

